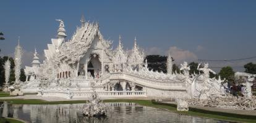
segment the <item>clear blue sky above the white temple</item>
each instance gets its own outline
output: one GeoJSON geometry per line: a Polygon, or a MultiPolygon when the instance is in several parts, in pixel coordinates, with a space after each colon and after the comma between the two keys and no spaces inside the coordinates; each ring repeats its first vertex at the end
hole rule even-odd
{"type": "Polygon", "coordinates": [[[172,53],[177,60],[256,55],[256,1],[9,0],[1,1],[0,12],[0,31],[6,38],[0,42],[1,55],[14,52],[18,36],[25,52],[32,54],[36,46],[43,54],[56,38],[55,19],[64,20],[70,39],[82,14],[100,23],[101,33],[114,47],[121,34],[126,49],[132,48],[136,36],[147,54],[164,55],[171,48],[179,53],[172,53]]]}

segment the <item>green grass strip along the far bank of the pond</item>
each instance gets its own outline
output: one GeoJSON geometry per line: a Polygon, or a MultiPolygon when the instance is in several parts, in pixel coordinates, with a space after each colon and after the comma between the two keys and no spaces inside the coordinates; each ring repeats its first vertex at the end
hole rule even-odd
{"type": "MultiPolygon", "coordinates": [[[[1,100],[0,100],[1,101],[1,100]]],[[[74,104],[74,103],[85,103],[85,100],[74,100],[74,101],[44,101],[44,100],[23,100],[23,99],[9,99],[6,100],[12,104],[30,104],[30,105],[53,105],[53,104],[74,104]]],[[[236,121],[236,122],[256,122],[256,116],[247,116],[242,114],[232,114],[232,113],[222,113],[216,111],[207,111],[203,109],[197,108],[189,108],[189,111],[177,111],[176,105],[174,104],[166,104],[166,103],[158,103],[151,100],[125,100],[125,99],[117,99],[117,100],[104,100],[105,103],[111,102],[127,102],[127,103],[137,103],[142,106],[151,106],[153,108],[161,108],[166,109],[168,111],[172,111],[178,114],[186,114],[190,116],[197,117],[207,117],[211,119],[218,119],[224,121],[236,121]]]]}

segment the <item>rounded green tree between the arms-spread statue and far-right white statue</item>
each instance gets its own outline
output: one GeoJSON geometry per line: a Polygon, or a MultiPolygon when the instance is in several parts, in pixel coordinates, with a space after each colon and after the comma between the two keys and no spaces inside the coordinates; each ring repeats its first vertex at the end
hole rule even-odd
{"type": "Polygon", "coordinates": [[[221,68],[219,76],[221,76],[221,79],[226,78],[226,81],[228,81],[229,84],[231,84],[231,82],[234,82],[234,71],[231,66],[221,68]]]}

